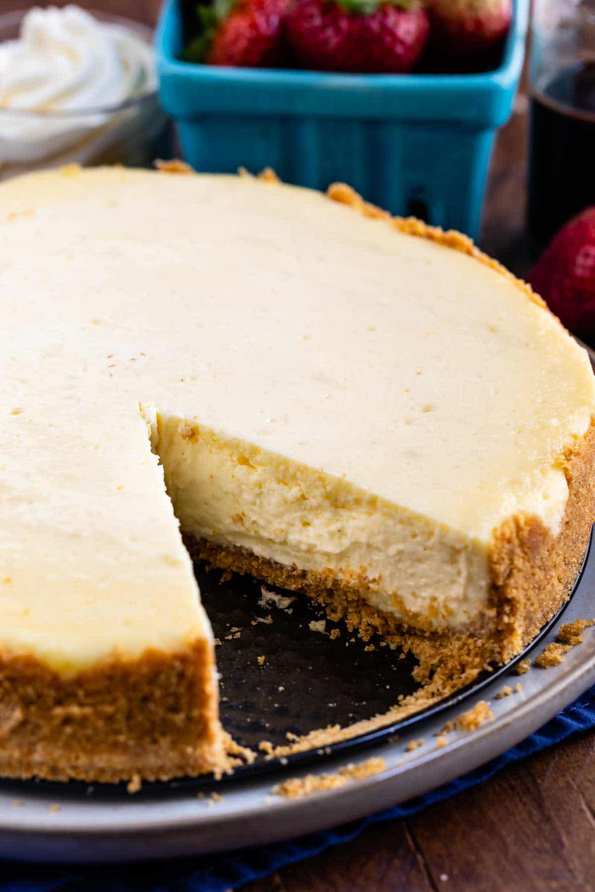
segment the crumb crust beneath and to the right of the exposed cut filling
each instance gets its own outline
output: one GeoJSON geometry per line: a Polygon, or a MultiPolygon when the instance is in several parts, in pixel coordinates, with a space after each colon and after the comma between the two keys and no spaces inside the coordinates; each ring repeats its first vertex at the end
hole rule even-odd
{"type": "Polygon", "coordinates": [[[371,605],[365,576],[338,578],[331,569],[310,571],[263,558],[249,549],[197,538],[186,531],[191,557],[222,570],[247,573],[270,585],[308,595],[332,620],[368,641],[380,634],[393,648],[410,650],[420,661],[417,681],[432,676],[434,696],[472,681],[489,664],[516,657],[569,596],[595,516],[595,421],[565,452],[568,500],[561,530],[553,535],[541,519],[509,517],[494,531],[488,552],[491,578],[486,611],[466,630],[424,629],[371,605]]]}

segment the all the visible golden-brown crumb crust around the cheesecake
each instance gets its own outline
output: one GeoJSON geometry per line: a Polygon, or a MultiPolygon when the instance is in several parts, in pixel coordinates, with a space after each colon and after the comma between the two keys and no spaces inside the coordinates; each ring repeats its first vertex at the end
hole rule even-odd
{"type": "MultiPolygon", "coordinates": [[[[331,186],[328,195],[368,217],[387,219],[407,235],[473,256],[514,282],[529,300],[545,306],[529,285],[480,252],[467,236],[416,219],[393,219],[343,184],[331,186]]],[[[392,645],[412,650],[420,661],[417,679],[432,675],[438,697],[471,681],[488,663],[514,657],[567,599],[595,516],[592,419],[586,434],[567,445],[560,463],[568,485],[560,532],[554,535],[530,515],[510,516],[494,531],[488,558],[489,616],[478,632],[432,632],[396,623],[362,597],[364,579],[345,584],[330,572],[304,571],[243,548],[196,540],[191,531],[186,531],[185,541],[194,558],[305,591],[332,618],[344,617],[362,637],[379,632],[392,645]]],[[[68,677],[34,657],[0,657],[0,679],[4,776],[168,780],[229,767],[212,647],[206,640],[176,652],[148,650],[133,660],[106,658],[68,677]]]]}

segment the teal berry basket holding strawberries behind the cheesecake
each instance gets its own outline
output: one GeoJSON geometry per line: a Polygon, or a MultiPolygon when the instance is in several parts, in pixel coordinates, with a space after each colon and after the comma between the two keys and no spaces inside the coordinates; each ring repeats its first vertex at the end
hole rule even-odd
{"type": "Polygon", "coordinates": [[[272,167],[288,183],[342,181],[394,214],[477,237],[497,128],[523,68],[530,0],[515,0],[500,67],[368,75],[181,62],[178,0],[156,33],[161,103],[196,170],[272,167]]]}

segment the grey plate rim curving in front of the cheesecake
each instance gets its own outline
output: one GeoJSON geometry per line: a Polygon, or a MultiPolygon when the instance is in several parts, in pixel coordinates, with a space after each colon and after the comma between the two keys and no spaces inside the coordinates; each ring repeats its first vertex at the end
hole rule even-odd
{"type": "MultiPolygon", "coordinates": [[[[591,552],[587,570],[590,572],[585,571],[583,582],[577,591],[583,605],[573,605],[578,609],[578,615],[584,612],[586,603],[592,600],[595,552],[591,552]]],[[[555,633],[556,627],[550,632],[551,640],[555,633]]],[[[355,784],[322,790],[300,799],[285,799],[270,795],[272,784],[268,776],[260,782],[240,781],[236,787],[248,789],[248,797],[244,797],[248,798],[248,802],[242,801],[240,807],[231,812],[228,807],[219,810],[219,806],[212,809],[199,806],[196,813],[176,814],[177,805],[187,804],[191,799],[196,800],[195,795],[188,795],[184,789],[180,789],[179,796],[173,797],[172,791],[169,791],[169,797],[173,800],[169,812],[173,810],[174,814],[160,814],[163,797],[154,797],[150,802],[135,802],[134,797],[127,797],[123,803],[118,802],[115,809],[112,802],[99,804],[109,817],[109,825],[105,821],[90,821],[88,818],[75,825],[71,821],[61,821],[60,813],[51,816],[31,815],[23,823],[22,814],[19,815],[21,820],[17,818],[21,809],[14,814],[9,810],[8,814],[0,814],[0,856],[13,851],[15,844],[17,848],[21,846],[27,851],[28,860],[45,862],[99,860],[107,863],[149,857],[200,855],[272,843],[304,832],[324,830],[344,821],[356,820],[405,799],[423,795],[464,772],[474,770],[515,746],[547,722],[595,681],[595,630],[589,633],[581,648],[570,652],[565,663],[547,670],[547,673],[543,677],[545,683],[541,684],[539,690],[517,702],[514,698],[505,698],[492,703],[494,710],[497,710],[492,721],[483,724],[473,735],[459,734],[445,747],[431,747],[419,755],[410,754],[409,757],[404,750],[406,736],[393,744],[385,744],[384,747],[369,747],[366,757],[382,755],[389,767],[386,771],[355,784]],[[134,821],[131,821],[126,814],[128,804],[133,808],[135,805],[141,806],[144,816],[139,818],[136,814],[134,821]],[[17,820],[13,820],[14,818],[17,820]]],[[[494,679],[487,693],[482,691],[469,698],[469,707],[480,699],[490,698],[490,694],[493,698],[500,683],[501,679],[494,679]]],[[[451,706],[441,716],[441,720],[448,718],[450,713],[458,714],[459,706],[451,706]]],[[[432,719],[425,723],[430,732],[433,724],[435,722],[432,719]]],[[[419,729],[416,727],[415,731],[417,735],[419,729]]],[[[332,772],[344,762],[344,756],[329,756],[322,770],[332,772]]],[[[303,776],[307,770],[293,773],[303,776]]],[[[236,787],[231,790],[232,808],[236,787]]],[[[217,789],[216,781],[213,782],[213,788],[217,789]]],[[[223,786],[219,786],[219,789],[221,793],[227,793],[223,786]]],[[[38,793],[43,795],[43,789],[39,789],[38,793]]],[[[137,811],[138,808],[136,813],[137,811]]]]}

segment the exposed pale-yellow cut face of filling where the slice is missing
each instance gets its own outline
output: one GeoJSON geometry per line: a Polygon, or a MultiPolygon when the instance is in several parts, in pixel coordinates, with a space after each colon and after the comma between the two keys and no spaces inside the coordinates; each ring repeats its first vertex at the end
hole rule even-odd
{"type": "Polygon", "coordinates": [[[483,542],[197,419],[145,417],[185,533],[330,574],[397,622],[477,631],[485,621],[483,542]]]}

